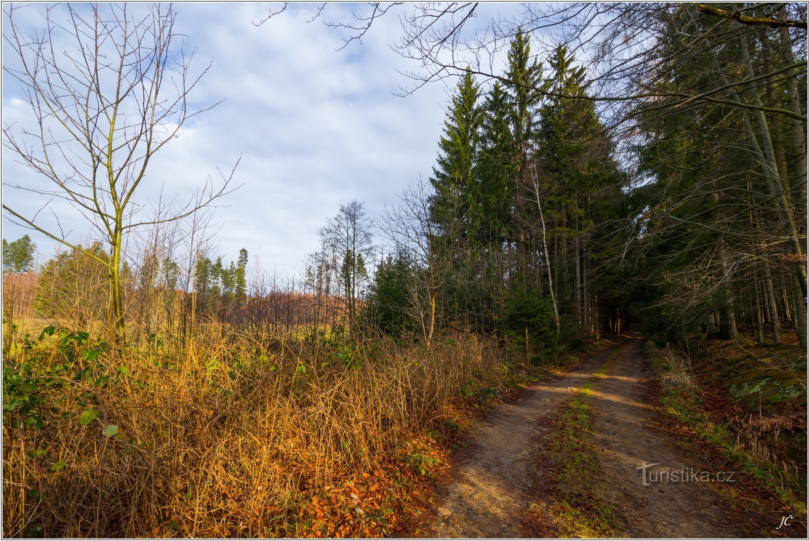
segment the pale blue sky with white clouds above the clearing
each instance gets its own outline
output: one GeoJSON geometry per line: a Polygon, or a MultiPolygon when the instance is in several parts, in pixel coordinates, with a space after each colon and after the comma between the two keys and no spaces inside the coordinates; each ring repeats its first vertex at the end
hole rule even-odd
{"type": "MultiPolygon", "coordinates": [[[[7,5],[4,5],[4,10],[7,5]]],[[[139,6],[134,5],[134,8],[139,6]]],[[[212,175],[239,161],[235,192],[213,210],[215,252],[236,260],[244,247],[251,263],[286,272],[300,268],[318,243],[318,228],[357,199],[369,213],[395,201],[405,184],[431,175],[437,142],[449,101],[448,84],[425,85],[412,95],[395,95],[410,79],[399,70],[418,68],[390,49],[401,32],[399,18],[378,19],[362,43],[342,51],[344,33],[321,20],[307,23],[315,5],[291,5],[270,21],[255,26],[270,6],[249,3],[179,3],[176,32],[185,49],[194,50],[192,66],[211,68],[194,88],[198,106],[224,101],[183,125],[151,161],[139,187],[142,202],[164,197],[190,197],[212,175]]],[[[330,5],[323,19],[351,19],[364,6],[330,5]]],[[[41,26],[41,5],[23,7],[15,17],[23,27],[41,26]]],[[[494,7],[488,8],[492,14],[494,7]]],[[[480,15],[485,19],[489,15],[480,15]]],[[[9,32],[4,14],[2,30],[9,32]]],[[[3,48],[3,65],[14,66],[11,48],[3,48]]],[[[2,125],[31,126],[32,116],[20,99],[19,83],[4,74],[2,125]]],[[[31,217],[51,199],[12,188],[41,186],[43,180],[2,149],[2,202],[31,217]]],[[[146,211],[148,213],[148,211],[146,211]]],[[[69,238],[87,239],[90,227],[61,201],[37,214],[45,229],[70,231],[69,238]]],[[[2,238],[28,233],[40,259],[57,243],[25,230],[3,211],[2,238]]],[[[137,257],[132,253],[130,257],[137,257]]]]}

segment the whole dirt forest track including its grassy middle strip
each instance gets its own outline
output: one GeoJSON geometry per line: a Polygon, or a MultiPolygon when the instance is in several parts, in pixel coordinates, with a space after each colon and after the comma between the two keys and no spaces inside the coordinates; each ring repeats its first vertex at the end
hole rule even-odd
{"type": "Polygon", "coordinates": [[[667,429],[643,345],[625,336],[493,408],[416,535],[806,537],[738,464],[667,429]]]}

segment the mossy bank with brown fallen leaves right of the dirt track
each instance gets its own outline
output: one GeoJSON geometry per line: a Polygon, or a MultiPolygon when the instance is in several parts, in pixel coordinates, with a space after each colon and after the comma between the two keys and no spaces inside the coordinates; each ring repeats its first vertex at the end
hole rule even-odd
{"type": "Polygon", "coordinates": [[[659,370],[665,411],[759,480],[786,509],[806,517],[802,354],[790,346],[780,350],[794,354],[796,361],[775,363],[774,348],[765,357],[752,344],[746,349],[713,344],[695,362],[698,372],[716,377],[698,378],[680,354],[658,349],[652,341],[646,344],[652,366],[659,370]]]}

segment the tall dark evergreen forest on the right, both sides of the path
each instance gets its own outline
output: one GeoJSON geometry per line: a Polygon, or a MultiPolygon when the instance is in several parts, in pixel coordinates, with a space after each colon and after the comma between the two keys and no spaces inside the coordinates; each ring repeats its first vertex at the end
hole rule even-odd
{"type": "Polygon", "coordinates": [[[806,32],[784,6],[746,9],[775,19],[608,8],[613,63],[592,77],[562,44],[541,64],[519,29],[505,72],[467,70],[429,182],[382,218],[379,326],[527,351],[636,322],[685,345],[740,328],[806,345],[806,32]]]}

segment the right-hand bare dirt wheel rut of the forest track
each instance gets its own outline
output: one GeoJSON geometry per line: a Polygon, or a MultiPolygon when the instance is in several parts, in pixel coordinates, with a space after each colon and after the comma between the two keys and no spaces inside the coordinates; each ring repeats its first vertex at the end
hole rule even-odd
{"type": "Polygon", "coordinates": [[[593,443],[611,488],[606,497],[620,511],[625,535],[731,538],[778,526],[778,517],[732,508],[737,472],[712,471],[651,423],[643,345],[644,340],[623,344],[589,399],[596,414],[593,443]]]}

